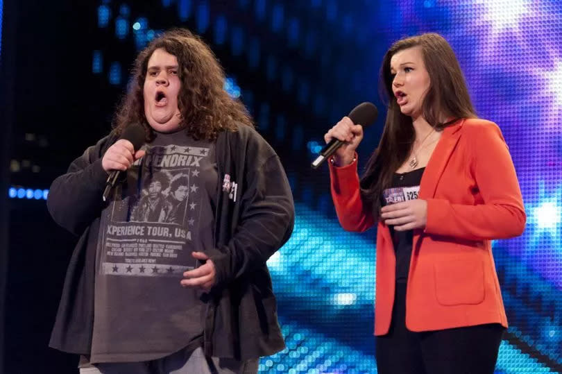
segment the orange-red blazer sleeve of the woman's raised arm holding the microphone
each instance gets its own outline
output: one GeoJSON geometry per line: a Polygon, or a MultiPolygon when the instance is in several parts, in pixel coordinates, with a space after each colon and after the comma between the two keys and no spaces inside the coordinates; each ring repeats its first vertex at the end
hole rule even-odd
{"type": "Polygon", "coordinates": [[[365,206],[359,193],[359,175],[357,174],[357,155],[355,160],[345,167],[330,164],[330,189],[332,200],[343,230],[364,232],[374,224],[371,207],[365,206]]]}

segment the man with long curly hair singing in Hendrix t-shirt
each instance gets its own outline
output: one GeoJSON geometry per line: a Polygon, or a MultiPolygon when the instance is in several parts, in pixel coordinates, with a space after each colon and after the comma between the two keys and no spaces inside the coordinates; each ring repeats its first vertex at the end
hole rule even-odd
{"type": "Polygon", "coordinates": [[[137,56],[110,135],[51,185],[53,219],[80,240],[50,346],[80,355],[80,373],[256,373],[284,348],[266,261],[291,235],[293,199],[224,78],[199,37],[163,33],[137,56]],[[119,139],[131,124],[140,149],[119,139]],[[182,216],[137,214],[179,178],[182,216]]]}

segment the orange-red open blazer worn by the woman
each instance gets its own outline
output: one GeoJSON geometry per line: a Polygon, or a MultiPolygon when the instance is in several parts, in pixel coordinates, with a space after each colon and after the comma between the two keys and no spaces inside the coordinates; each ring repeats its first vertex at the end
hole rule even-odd
{"type": "MultiPolygon", "coordinates": [[[[341,226],[373,226],[359,196],[357,162],[330,165],[332,198],[341,226]]],[[[420,182],[427,201],[425,230],[414,230],[406,295],[411,331],[482,323],[507,327],[491,239],[521,235],[525,210],[516,171],[496,124],[461,119],[443,130],[420,182]]],[[[375,335],[389,331],[394,301],[395,253],[389,228],[379,221],[375,335]]]]}

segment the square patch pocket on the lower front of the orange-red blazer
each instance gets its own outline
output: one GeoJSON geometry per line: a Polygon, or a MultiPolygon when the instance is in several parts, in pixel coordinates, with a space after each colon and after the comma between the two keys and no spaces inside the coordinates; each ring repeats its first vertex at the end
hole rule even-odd
{"type": "Polygon", "coordinates": [[[479,304],[484,301],[484,263],[479,259],[434,264],[435,295],[441,305],[479,304]]]}

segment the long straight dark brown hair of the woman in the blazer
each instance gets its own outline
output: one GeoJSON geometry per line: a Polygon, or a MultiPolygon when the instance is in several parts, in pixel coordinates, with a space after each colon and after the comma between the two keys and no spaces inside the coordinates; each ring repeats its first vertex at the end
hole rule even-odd
{"type": "Polygon", "coordinates": [[[454,122],[443,118],[475,118],[465,79],[457,57],[444,37],[426,33],[395,42],[382,60],[379,89],[387,105],[386,120],[378,147],[369,158],[361,178],[361,198],[372,205],[375,220],[379,218],[382,191],[389,188],[393,173],[405,162],[416,139],[411,117],[400,112],[392,91],[391,58],[398,51],[420,46],[429,89],[422,103],[423,118],[435,130],[443,130],[454,122]]]}

